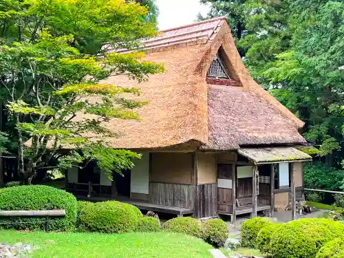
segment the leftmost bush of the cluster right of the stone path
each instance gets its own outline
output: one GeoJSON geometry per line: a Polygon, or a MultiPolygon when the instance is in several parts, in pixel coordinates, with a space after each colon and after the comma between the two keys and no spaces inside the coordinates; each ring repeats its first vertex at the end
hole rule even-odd
{"type": "Polygon", "coordinates": [[[261,228],[271,225],[272,222],[266,217],[254,217],[246,220],[241,227],[241,239],[240,244],[243,247],[255,248],[257,243],[257,235],[261,228]]]}

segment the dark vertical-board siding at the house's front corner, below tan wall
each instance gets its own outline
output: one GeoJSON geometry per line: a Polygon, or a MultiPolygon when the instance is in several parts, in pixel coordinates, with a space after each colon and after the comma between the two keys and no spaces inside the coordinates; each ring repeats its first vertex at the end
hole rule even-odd
{"type": "Polygon", "coordinates": [[[217,184],[197,186],[197,211],[195,217],[213,217],[217,215],[217,184]]]}

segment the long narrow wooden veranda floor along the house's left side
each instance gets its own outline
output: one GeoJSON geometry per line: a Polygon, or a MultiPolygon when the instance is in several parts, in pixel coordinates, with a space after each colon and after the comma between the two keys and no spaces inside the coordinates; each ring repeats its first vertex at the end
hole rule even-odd
{"type": "Polygon", "coordinates": [[[84,200],[84,201],[89,201],[89,202],[104,202],[104,201],[109,201],[109,200],[116,200],[119,202],[125,202],[127,204],[136,206],[140,210],[174,214],[174,215],[178,215],[178,217],[182,217],[183,215],[191,215],[194,213],[193,208],[182,208],[182,207],[175,207],[175,206],[150,204],[149,202],[144,202],[142,200],[134,200],[125,196],[118,196],[115,198],[111,198],[111,197],[105,197],[105,196],[87,197],[85,195],[77,195],[76,198],[78,200],[84,200]]]}

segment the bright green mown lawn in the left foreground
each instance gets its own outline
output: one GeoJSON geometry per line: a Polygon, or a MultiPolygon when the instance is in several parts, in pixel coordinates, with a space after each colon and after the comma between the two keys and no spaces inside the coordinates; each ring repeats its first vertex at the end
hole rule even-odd
{"type": "Polygon", "coordinates": [[[104,235],[0,230],[0,242],[14,244],[19,241],[38,247],[32,255],[34,258],[210,258],[208,250],[213,248],[201,239],[173,233],[104,235]]]}

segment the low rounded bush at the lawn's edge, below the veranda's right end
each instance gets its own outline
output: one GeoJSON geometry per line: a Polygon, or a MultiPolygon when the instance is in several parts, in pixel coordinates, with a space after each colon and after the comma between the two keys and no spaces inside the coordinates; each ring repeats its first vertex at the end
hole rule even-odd
{"type": "Polygon", "coordinates": [[[201,224],[192,217],[175,217],[164,223],[162,228],[168,232],[184,233],[201,237],[201,224]]]}

